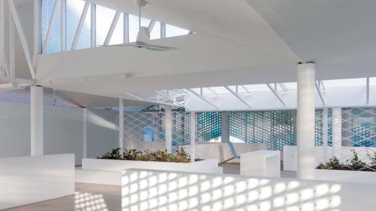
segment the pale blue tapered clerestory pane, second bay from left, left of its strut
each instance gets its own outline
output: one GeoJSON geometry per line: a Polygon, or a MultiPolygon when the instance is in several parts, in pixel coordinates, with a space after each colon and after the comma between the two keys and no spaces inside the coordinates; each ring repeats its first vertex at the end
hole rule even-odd
{"type": "Polygon", "coordinates": [[[81,0],[66,0],[66,50],[72,47],[74,35],[79,26],[85,2],[81,0]]]}

